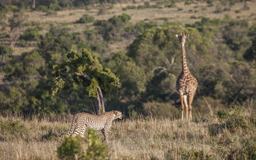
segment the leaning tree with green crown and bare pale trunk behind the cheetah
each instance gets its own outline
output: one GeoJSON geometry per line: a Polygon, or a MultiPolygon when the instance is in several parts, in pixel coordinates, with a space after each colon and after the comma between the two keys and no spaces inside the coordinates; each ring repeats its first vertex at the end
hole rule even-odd
{"type": "Polygon", "coordinates": [[[96,98],[96,112],[105,112],[104,94],[109,94],[121,86],[119,78],[108,68],[103,68],[96,54],[87,49],[82,49],[82,55],[70,50],[67,54],[68,61],[52,64],[52,74],[55,77],[55,85],[52,87],[54,96],[59,90],[65,90],[73,85],[84,85],[89,97],[96,98]]]}

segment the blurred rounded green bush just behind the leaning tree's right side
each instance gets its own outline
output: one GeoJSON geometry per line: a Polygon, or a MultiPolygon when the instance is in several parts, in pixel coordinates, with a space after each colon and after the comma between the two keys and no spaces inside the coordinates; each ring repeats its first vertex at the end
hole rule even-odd
{"type": "Polygon", "coordinates": [[[128,103],[138,100],[140,93],[145,91],[144,70],[122,52],[114,53],[113,57],[105,60],[105,65],[119,77],[122,83],[122,88],[113,94],[112,100],[118,99],[119,103],[124,99],[128,103]]]}

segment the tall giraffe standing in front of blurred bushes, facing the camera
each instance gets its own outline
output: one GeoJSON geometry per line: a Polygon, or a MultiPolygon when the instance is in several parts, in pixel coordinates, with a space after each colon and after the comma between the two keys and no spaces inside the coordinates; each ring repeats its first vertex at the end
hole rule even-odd
{"type": "Polygon", "coordinates": [[[182,53],[182,71],[177,79],[176,86],[180,96],[181,103],[181,119],[183,120],[184,106],[186,107],[186,119],[191,120],[192,118],[192,101],[195,96],[196,89],[198,87],[198,82],[195,77],[190,73],[189,68],[186,63],[186,51],[185,43],[186,38],[189,34],[180,33],[176,34],[176,37],[180,40],[181,53],[182,53]],[[187,97],[189,99],[187,103],[187,97]]]}

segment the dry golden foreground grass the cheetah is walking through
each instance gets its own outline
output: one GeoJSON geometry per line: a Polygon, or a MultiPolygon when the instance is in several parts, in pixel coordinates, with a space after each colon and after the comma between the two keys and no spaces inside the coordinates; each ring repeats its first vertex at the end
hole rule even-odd
{"type": "MultiPolygon", "coordinates": [[[[1,159],[59,159],[57,147],[71,123],[0,118],[1,159]]],[[[96,134],[103,138],[100,131],[96,134]]],[[[87,137],[87,131],[85,133],[87,137]]],[[[256,112],[241,107],[192,122],[160,117],[114,121],[107,144],[110,160],[255,159],[256,112]]],[[[88,144],[82,143],[84,151],[88,144]]],[[[93,159],[93,158],[92,158],[93,159]]]]}

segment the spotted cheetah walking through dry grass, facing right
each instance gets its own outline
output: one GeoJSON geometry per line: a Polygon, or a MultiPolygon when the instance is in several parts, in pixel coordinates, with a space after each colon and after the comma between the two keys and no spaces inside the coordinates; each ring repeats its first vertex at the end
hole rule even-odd
{"type": "Polygon", "coordinates": [[[109,111],[100,115],[78,113],[73,118],[70,132],[66,135],[58,134],[58,136],[63,138],[65,136],[77,136],[79,134],[81,137],[84,137],[84,131],[88,127],[91,129],[101,130],[104,135],[104,140],[102,140],[102,142],[106,140],[108,143],[108,130],[111,127],[112,121],[117,118],[122,119],[122,113],[120,111],[109,111]]]}

